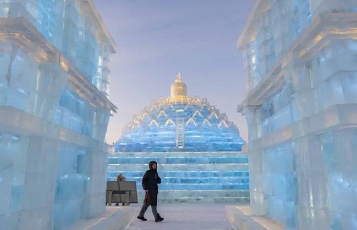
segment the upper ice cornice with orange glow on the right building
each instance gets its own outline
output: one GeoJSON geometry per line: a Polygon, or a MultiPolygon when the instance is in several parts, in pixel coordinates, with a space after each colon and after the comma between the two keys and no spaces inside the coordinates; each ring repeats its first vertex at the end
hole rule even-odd
{"type": "Polygon", "coordinates": [[[310,26],[296,39],[291,48],[276,62],[275,67],[248,92],[238,105],[237,112],[250,105],[261,105],[286,81],[284,68],[297,60],[309,60],[331,40],[357,37],[357,13],[324,13],[316,17],[310,26]]]}

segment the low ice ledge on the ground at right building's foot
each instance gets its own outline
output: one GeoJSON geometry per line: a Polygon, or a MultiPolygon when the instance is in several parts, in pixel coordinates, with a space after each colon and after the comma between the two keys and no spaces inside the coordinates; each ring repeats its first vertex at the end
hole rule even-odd
{"type": "Polygon", "coordinates": [[[253,216],[249,205],[225,206],[225,212],[231,224],[237,230],[285,230],[278,224],[263,216],[253,216]]]}

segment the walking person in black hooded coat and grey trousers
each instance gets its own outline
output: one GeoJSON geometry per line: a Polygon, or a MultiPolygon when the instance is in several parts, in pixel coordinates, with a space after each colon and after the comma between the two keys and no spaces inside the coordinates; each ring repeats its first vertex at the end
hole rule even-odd
{"type": "Polygon", "coordinates": [[[145,172],[142,179],[142,187],[145,191],[145,198],[137,218],[143,221],[146,220],[144,214],[150,205],[152,214],[154,214],[155,217],[155,222],[164,220],[164,218],[162,218],[157,211],[159,193],[158,183],[161,183],[161,178],[159,177],[157,168],[158,164],[156,162],[149,162],[149,170],[145,172]]]}

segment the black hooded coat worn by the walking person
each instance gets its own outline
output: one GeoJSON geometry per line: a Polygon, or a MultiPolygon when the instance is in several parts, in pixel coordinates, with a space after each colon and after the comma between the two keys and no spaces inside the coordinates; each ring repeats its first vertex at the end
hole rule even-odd
{"type": "Polygon", "coordinates": [[[142,179],[142,186],[144,190],[148,190],[148,194],[145,195],[144,203],[150,205],[157,205],[159,187],[158,183],[161,183],[161,178],[158,175],[158,164],[154,161],[149,163],[149,170],[147,170],[142,179]],[[156,169],[152,168],[152,165],[156,164],[156,169]]]}

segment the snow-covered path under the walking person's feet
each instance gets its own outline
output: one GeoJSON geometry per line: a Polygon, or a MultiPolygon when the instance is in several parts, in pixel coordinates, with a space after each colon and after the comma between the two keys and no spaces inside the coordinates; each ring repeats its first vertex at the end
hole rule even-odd
{"type": "MultiPolygon", "coordinates": [[[[136,216],[141,203],[130,204],[135,207],[136,216]]],[[[127,230],[232,230],[234,229],[225,216],[225,204],[158,204],[158,212],[165,218],[162,222],[155,222],[149,207],[145,213],[147,221],[134,217],[127,230]]]]}

